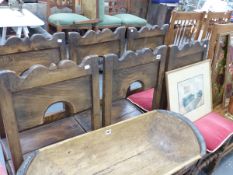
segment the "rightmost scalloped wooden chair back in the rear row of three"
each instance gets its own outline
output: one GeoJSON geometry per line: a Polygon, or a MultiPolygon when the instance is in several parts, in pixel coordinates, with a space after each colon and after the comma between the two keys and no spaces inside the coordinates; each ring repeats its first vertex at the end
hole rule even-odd
{"type": "Polygon", "coordinates": [[[154,50],[165,44],[167,30],[167,24],[161,28],[144,26],[139,31],[135,27],[129,27],[127,29],[127,50],[136,51],[142,48],[154,50]]]}

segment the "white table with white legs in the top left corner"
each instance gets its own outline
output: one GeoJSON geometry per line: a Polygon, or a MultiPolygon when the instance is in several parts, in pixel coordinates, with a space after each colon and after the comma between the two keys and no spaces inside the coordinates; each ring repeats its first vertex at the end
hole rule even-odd
{"type": "Polygon", "coordinates": [[[26,9],[23,9],[21,13],[16,9],[1,7],[0,16],[0,28],[2,28],[0,45],[3,45],[6,41],[6,32],[8,27],[11,27],[16,31],[17,37],[21,37],[22,33],[25,37],[28,37],[28,27],[44,25],[44,22],[41,19],[26,9]]]}

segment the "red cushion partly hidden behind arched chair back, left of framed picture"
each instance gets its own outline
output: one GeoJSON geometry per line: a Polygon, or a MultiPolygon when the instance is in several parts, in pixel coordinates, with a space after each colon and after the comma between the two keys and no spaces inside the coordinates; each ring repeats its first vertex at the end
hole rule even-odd
{"type": "Polygon", "coordinates": [[[142,92],[135,93],[128,97],[133,104],[143,109],[144,111],[152,110],[154,88],[142,92]]]}

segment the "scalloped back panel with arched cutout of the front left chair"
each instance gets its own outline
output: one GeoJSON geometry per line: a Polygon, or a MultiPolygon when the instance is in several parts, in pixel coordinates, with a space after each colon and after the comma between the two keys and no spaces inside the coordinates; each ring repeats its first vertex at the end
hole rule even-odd
{"type": "MultiPolygon", "coordinates": [[[[92,67],[98,68],[97,62],[92,64],[92,67]]],[[[85,69],[85,66],[90,65],[89,63],[78,67],[68,60],[49,69],[34,65],[20,77],[14,72],[3,71],[0,78],[12,94],[19,131],[57,120],[45,116],[48,107],[56,102],[68,104],[69,114],[90,109],[92,71],[91,68],[85,69]]],[[[96,73],[98,74],[98,71],[96,73]]]]}

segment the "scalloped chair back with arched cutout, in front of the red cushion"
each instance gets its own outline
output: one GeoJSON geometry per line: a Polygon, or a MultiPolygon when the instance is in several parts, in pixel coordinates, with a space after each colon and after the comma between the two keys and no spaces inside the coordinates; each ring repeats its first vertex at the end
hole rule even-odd
{"type": "Polygon", "coordinates": [[[164,77],[166,46],[158,47],[153,53],[144,48],[137,52],[127,51],[119,59],[110,54],[104,57],[103,77],[103,124],[111,124],[112,102],[125,99],[130,85],[141,82],[143,90],[155,88],[153,105],[159,108],[161,82],[164,77]]]}

